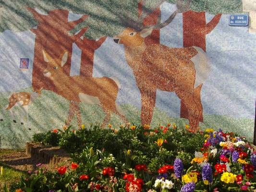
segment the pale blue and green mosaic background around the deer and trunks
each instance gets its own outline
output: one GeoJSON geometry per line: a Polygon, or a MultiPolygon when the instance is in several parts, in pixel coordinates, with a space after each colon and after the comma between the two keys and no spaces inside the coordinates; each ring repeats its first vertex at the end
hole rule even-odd
{"type": "MultiPolygon", "coordinates": [[[[90,7],[94,6],[92,2],[90,7]]],[[[241,6],[241,2],[236,3],[240,3],[241,6]]],[[[135,6],[135,3],[127,4],[128,8],[129,6],[135,6]]],[[[163,3],[160,6],[161,21],[167,19],[174,10],[176,10],[175,4],[163,3]]],[[[198,11],[202,10],[198,9],[198,11]]],[[[218,12],[221,12],[221,9],[211,13],[218,12]]],[[[238,10],[235,9],[234,12],[238,10]]],[[[110,18],[115,15],[111,13],[109,13],[110,18]]],[[[214,18],[211,13],[206,12],[206,23],[214,18]]],[[[102,15],[108,15],[108,12],[102,15]]],[[[68,21],[79,18],[81,14],[71,11],[68,14],[68,21]]],[[[229,26],[228,23],[229,14],[222,14],[217,26],[206,35],[206,52],[210,59],[211,72],[201,91],[204,123],[200,123],[199,126],[201,129],[211,127],[235,131],[252,141],[256,98],[256,34],[250,33],[248,26],[229,26]]],[[[94,52],[92,76],[117,77],[122,85],[117,103],[130,122],[140,123],[141,95],[134,74],[125,60],[124,48],[114,43],[111,37],[121,32],[122,27],[117,26],[115,32],[113,32],[114,27],[112,25],[111,27],[111,32],[107,31],[105,34],[103,32],[97,34],[97,27],[91,27],[92,29],[86,33],[88,38],[94,39],[102,35],[108,36],[94,52]]],[[[68,100],[51,91],[43,90],[42,95],[30,105],[29,119],[24,121],[24,125],[12,122],[10,112],[5,110],[11,93],[33,91],[32,72],[36,38],[28,29],[15,31],[17,30],[1,28],[0,33],[0,119],[3,119],[0,121],[0,148],[24,147],[25,142],[30,141],[34,133],[61,128],[69,109],[68,100]],[[29,59],[27,70],[20,69],[20,58],[29,59]]],[[[183,47],[182,13],[177,14],[171,24],[160,30],[160,43],[173,48],[183,47]]],[[[81,55],[82,50],[73,43],[71,76],[80,74],[81,55]]],[[[100,107],[85,104],[80,104],[80,107],[82,123],[85,126],[104,119],[100,107]]],[[[175,122],[178,126],[188,124],[188,120],[180,118],[180,108],[180,99],[174,93],[157,91],[151,125],[157,126],[159,123],[168,122],[175,122]]],[[[15,111],[19,117],[23,113],[20,108],[15,108],[15,111]]],[[[110,123],[118,126],[121,120],[118,116],[112,115],[110,123]]],[[[76,120],[74,119],[71,124],[76,126],[76,120]]]]}

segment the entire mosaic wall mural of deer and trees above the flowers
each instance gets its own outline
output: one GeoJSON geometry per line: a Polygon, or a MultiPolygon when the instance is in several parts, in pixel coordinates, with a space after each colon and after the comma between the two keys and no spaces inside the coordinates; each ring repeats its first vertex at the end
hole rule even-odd
{"type": "Polygon", "coordinates": [[[246,3],[3,0],[0,148],[95,123],[175,122],[252,140],[256,33],[229,26],[230,14],[253,15],[246,3]]]}

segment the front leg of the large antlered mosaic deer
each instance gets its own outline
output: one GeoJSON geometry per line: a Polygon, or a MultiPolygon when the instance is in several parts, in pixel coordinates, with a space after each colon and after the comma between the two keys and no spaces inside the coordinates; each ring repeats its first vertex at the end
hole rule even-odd
{"type": "Polygon", "coordinates": [[[141,123],[150,125],[156,105],[156,89],[144,88],[141,92],[141,123]]]}

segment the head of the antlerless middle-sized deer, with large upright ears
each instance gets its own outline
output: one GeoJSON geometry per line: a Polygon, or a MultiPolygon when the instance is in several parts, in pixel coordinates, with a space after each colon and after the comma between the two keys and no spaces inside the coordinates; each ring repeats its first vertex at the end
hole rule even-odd
{"type": "Polygon", "coordinates": [[[68,60],[68,51],[63,51],[58,59],[52,59],[49,54],[43,50],[44,61],[47,63],[47,68],[44,70],[44,76],[50,79],[58,78],[60,75],[65,75],[63,66],[68,60]]]}

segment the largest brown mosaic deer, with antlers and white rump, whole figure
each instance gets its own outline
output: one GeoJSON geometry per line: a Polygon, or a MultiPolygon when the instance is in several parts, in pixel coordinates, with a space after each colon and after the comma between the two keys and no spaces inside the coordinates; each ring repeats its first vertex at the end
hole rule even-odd
{"type": "Polygon", "coordinates": [[[169,48],[161,44],[145,44],[145,38],[154,29],[170,24],[177,13],[187,11],[189,3],[183,6],[182,0],[177,0],[178,9],[165,22],[149,27],[143,26],[142,21],[150,12],[143,12],[138,23],[128,22],[129,27],[114,37],[114,42],[124,45],[126,62],[134,72],[141,93],[142,124],[151,123],[159,89],[176,93],[188,109],[190,131],[198,130],[203,116],[201,87],[210,72],[206,53],[198,47],[169,48]]]}

